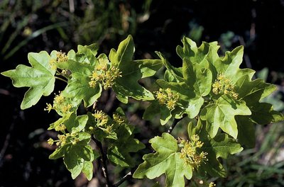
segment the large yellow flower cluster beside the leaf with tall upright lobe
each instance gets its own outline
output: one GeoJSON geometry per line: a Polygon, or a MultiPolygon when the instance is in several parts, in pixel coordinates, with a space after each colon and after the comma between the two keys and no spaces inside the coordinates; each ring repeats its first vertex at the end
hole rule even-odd
{"type": "Polygon", "coordinates": [[[89,86],[94,88],[97,83],[102,84],[104,89],[111,88],[114,85],[114,80],[117,77],[121,77],[121,72],[117,67],[109,67],[109,60],[105,58],[99,58],[97,66],[94,68],[92,75],[90,76],[89,86]]]}

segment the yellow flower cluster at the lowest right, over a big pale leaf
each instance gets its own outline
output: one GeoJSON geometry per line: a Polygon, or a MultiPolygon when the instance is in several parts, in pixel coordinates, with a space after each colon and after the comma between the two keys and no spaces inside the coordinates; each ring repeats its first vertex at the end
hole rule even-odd
{"type": "Polygon", "coordinates": [[[207,161],[207,152],[197,152],[197,148],[203,146],[203,142],[200,142],[198,135],[192,135],[190,141],[180,140],[181,154],[180,158],[185,160],[186,164],[192,166],[193,169],[198,168],[200,164],[207,161]]]}

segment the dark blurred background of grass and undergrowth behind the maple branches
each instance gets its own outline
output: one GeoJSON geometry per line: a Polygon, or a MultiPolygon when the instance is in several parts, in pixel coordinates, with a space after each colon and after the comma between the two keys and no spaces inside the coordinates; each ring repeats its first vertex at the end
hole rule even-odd
{"type": "MultiPolygon", "coordinates": [[[[76,50],[78,44],[97,42],[99,52],[108,54],[129,34],[136,43],[136,59],[157,58],[154,51],[158,50],[177,67],[182,62],[175,47],[181,45],[183,35],[198,44],[202,40],[217,40],[221,45],[220,55],[244,45],[242,67],[255,69],[256,77],[278,86],[266,102],[273,103],[277,111],[284,110],[283,0],[1,0],[0,72],[15,69],[17,64],[28,65],[28,52],[67,52],[76,50]]],[[[146,79],[143,84],[147,86],[152,81],[146,79]]],[[[58,84],[56,90],[64,86],[58,84]]],[[[96,177],[87,182],[84,176],[72,180],[61,159],[48,159],[53,150],[46,140],[55,134],[46,129],[58,116],[46,113],[43,108],[53,96],[21,111],[25,91],[14,88],[10,79],[0,77],[0,186],[101,186],[99,163],[94,166],[96,177]]],[[[111,107],[118,105],[111,92],[105,92],[104,96],[99,107],[104,108],[108,98],[113,101],[111,107]]],[[[157,119],[141,120],[145,103],[131,100],[123,107],[140,132],[137,138],[147,148],[151,137],[168,128],[159,126],[157,119]]],[[[224,160],[228,177],[217,179],[217,186],[284,186],[283,125],[258,125],[256,147],[224,160]]],[[[184,136],[185,125],[178,125],[173,133],[184,136]]],[[[148,152],[151,149],[140,153],[148,152]]],[[[137,164],[140,164],[141,156],[133,154],[133,157],[137,157],[137,164]]],[[[112,181],[118,181],[128,172],[110,165],[109,170],[112,181]]],[[[122,186],[153,186],[153,182],[129,180],[122,186]]]]}

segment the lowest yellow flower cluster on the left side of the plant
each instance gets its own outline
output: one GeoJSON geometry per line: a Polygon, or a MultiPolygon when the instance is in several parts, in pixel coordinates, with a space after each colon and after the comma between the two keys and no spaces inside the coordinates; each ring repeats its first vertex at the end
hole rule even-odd
{"type": "Polygon", "coordinates": [[[66,133],[65,135],[58,135],[58,140],[53,140],[52,138],[48,139],[48,145],[53,145],[56,142],[56,145],[62,147],[68,143],[72,143],[72,145],[77,144],[79,142],[79,138],[77,137],[77,132],[66,133]]]}

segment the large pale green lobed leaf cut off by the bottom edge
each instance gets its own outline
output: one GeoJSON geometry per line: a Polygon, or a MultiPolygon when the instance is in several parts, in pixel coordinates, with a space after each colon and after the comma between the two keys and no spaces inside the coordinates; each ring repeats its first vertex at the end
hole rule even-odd
{"type": "Polygon", "coordinates": [[[175,138],[163,133],[162,137],[154,137],[149,141],[155,149],[155,153],[143,156],[144,162],[138,166],[133,174],[133,178],[154,179],[165,174],[166,186],[185,186],[184,176],[192,178],[192,168],[180,159],[178,143],[175,138]]]}

